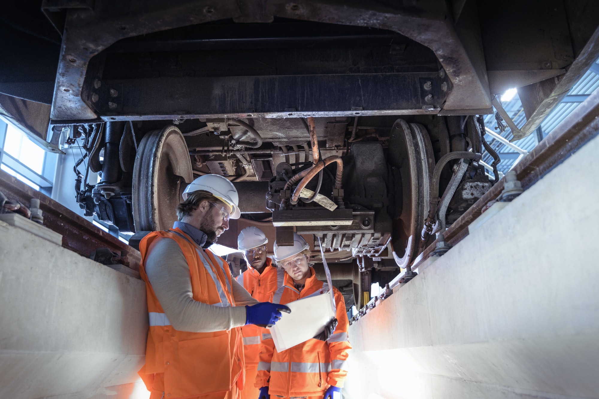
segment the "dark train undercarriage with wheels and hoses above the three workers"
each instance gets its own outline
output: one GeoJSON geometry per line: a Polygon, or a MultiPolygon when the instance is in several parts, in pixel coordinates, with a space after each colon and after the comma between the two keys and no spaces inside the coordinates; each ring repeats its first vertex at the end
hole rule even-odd
{"type": "Polygon", "coordinates": [[[527,122],[506,123],[524,138],[599,55],[583,0],[3,7],[2,114],[49,151],[81,143],[86,216],[134,242],[220,174],[271,242],[295,230],[316,262],[322,247],[358,309],[497,182],[482,119],[495,107],[501,125],[495,95],[518,87],[527,122]]]}

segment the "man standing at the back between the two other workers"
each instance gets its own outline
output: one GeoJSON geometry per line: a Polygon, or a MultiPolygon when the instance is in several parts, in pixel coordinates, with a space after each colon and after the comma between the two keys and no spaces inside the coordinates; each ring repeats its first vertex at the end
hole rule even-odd
{"type": "MultiPolygon", "coordinates": [[[[241,230],[237,237],[237,248],[243,253],[247,262],[247,270],[237,277],[237,282],[243,285],[247,292],[258,301],[272,302],[277,291],[277,269],[267,257],[268,238],[256,226],[241,230]]],[[[255,388],[256,373],[262,336],[270,334],[266,328],[248,324],[241,327],[243,335],[243,350],[246,358],[246,385],[241,391],[241,399],[256,399],[258,388],[255,388]]]]}

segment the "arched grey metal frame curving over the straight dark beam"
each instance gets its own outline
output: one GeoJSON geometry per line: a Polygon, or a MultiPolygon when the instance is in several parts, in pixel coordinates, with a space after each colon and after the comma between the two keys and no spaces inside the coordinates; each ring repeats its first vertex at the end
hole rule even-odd
{"type": "MultiPolygon", "coordinates": [[[[410,11],[402,7],[382,5],[380,2],[305,1],[289,4],[287,1],[280,0],[269,2],[223,0],[218,5],[214,5],[207,0],[170,2],[96,0],[93,11],[69,10],[66,16],[52,119],[96,119],[98,113],[93,110],[92,102],[89,100],[90,94],[86,92],[92,89],[95,76],[90,78],[87,67],[93,56],[120,39],[228,18],[244,22],[249,20],[268,22],[274,16],[367,26],[398,32],[429,47],[437,56],[444,68],[443,73],[451,82],[450,87],[447,88],[444,108],[478,110],[491,107],[485,71],[479,71],[471,62],[467,50],[453,28],[451,19],[448,18],[450,11],[447,10],[446,2],[443,0],[431,0],[419,6],[418,10],[410,9],[410,11]],[[87,79],[86,74],[88,74],[87,79]]],[[[226,90],[226,86],[212,87],[210,92],[218,94],[221,89],[226,90]]],[[[255,89],[260,91],[261,88],[255,89]]],[[[359,89],[356,93],[365,91],[372,96],[377,93],[376,87],[369,87],[364,83],[359,89]]],[[[173,90],[168,90],[166,93],[153,92],[152,96],[158,97],[164,94],[176,95],[176,92],[173,90]]],[[[143,98],[140,101],[143,101],[143,98]]],[[[394,106],[371,109],[390,110],[394,106]]],[[[335,111],[351,110],[350,107],[343,109],[344,107],[345,104],[343,107],[337,107],[335,111]]],[[[252,108],[263,107],[255,105],[252,108]]],[[[147,113],[145,110],[138,111],[140,115],[147,113]]],[[[240,113],[246,110],[237,108],[236,111],[240,113]]],[[[410,110],[410,113],[414,113],[413,110],[410,110]]]]}

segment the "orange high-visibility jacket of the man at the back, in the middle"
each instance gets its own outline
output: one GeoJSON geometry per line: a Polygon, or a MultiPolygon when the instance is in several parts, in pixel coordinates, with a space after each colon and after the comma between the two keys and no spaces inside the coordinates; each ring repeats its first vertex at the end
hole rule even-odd
{"type": "MultiPolygon", "coordinates": [[[[256,300],[260,302],[272,302],[274,292],[277,291],[277,270],[273,266],[273,261],[270,258],[266,258],[266,266],[262,274],[258,273],[255,268],[247,265],[247,270],[237,276],[237,282],[243,285],[243,288],[256,300]]],[[[260,342],[262,334],[265,333],[268,333],[268,330],[257,325],[248,324],[241,327],[246,365],[258,364],[260,342]]],[[[249,383],[253,384],[253,381],[249,383]]]]}

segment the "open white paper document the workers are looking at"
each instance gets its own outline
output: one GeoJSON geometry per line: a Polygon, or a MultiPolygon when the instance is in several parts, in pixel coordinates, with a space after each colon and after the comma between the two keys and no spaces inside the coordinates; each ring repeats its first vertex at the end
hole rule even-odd
{"type": "Polygon", "coordinates": [[[302,298],[286,304],[291,313],[284,313],[274,327],[269,327],[278,352],[289,349],[322,333],[325,325],[335,318],[332,309],[332,291],[314,297],[302,298]]]}

